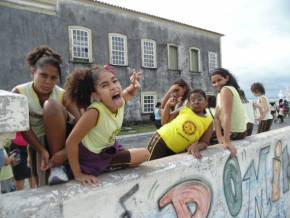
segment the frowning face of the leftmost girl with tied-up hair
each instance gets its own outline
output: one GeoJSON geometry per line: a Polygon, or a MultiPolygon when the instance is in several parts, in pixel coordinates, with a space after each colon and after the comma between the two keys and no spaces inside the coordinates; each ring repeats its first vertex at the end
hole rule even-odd
{"type": "Polygon", "coordinates": [[[59,79],[58,69],[52,65],[43,65],[32,71],[33,88],[38,95],[49,95],[59,79]]]}

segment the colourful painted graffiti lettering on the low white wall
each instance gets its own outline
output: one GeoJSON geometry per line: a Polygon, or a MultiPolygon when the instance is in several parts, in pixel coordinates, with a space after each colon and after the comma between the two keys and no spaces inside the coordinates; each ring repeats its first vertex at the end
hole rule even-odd
{"type": "MultiPolygon", "coordinates": [[[[278,141],[275,146],[261,148],[257,158],[246,165],[243,173],[237,158],[227,159],[223,167],[222,190],[232,217],[287,217],[289,206],[281,197],[289,191],[290,157],[287,145],[282,147],[282,142],[278,141]]],[[[156,199],[155,193],[160,196],[156,202],[159,208],[159,211],[155,211],[156,217],[161,215],[157,213],[172,215],[174,212],[178,218],[209,217],[213,199],[219,198],[213,197],[214,192],[209,184],[205,179],[185,180],[168,189],[165,187],[166,191],[160,195],[159,189],[164,187],[155,180],[147,197],[156,199]]],[[[136,184],[119,199],[123,209],[120,217],[134,217],[132,211],[127,209],[126,201],[138,190],[139,184],[136,184]]]]}

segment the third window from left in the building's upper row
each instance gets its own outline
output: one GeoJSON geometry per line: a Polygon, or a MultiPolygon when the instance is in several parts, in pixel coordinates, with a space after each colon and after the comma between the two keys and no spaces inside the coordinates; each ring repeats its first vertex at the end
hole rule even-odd
{"type": "Polygon", "coordinates": [[[156,42],[149,39],[141,40],[142,66],[156,68],[156,42]]]}

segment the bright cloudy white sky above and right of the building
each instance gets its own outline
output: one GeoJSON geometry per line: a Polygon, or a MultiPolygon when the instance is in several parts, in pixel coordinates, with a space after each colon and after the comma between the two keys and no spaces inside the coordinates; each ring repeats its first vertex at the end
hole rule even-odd
{"type": "Polygon", "coordinates": [[[224,34],[222,66],[248,97],[262,82],[269,97],[290,87],[289,0],[101,0],[224,34]]]}

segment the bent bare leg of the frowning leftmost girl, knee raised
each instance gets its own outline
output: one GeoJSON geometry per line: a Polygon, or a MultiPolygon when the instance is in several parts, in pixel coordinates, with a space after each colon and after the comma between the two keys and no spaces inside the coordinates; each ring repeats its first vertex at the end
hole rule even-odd
{"type": "Polygon", "coordinates": [[[47,100],[43,106],[43,121],[53,165],[62,165],[65,152],[67,112],[62,104],[47,100]]]}

